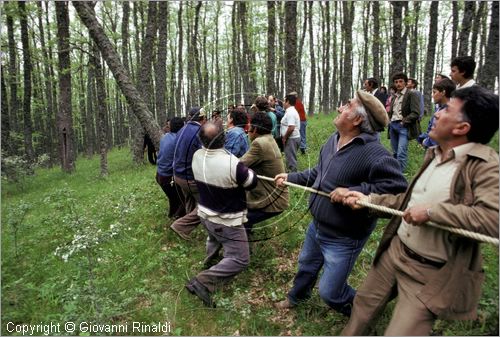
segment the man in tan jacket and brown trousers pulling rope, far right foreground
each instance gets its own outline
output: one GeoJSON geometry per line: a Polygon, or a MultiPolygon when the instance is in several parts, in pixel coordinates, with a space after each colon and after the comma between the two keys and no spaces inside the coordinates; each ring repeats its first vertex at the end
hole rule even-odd
{"type": "Polygon", "coordinates": [[[344,198],[354,209],[367,199],[404,216],[387,225],[342,335],[366,334],[396,295],[385,335],[427,335],[436,318],[476,317],[484,280],[479,243],[425,223],[498,237],[499,159],[484,145],[498,130],[498,112],[498,96],[484,88],[455,91],[429,133],[439,145],[405,193],[344,198]]]}

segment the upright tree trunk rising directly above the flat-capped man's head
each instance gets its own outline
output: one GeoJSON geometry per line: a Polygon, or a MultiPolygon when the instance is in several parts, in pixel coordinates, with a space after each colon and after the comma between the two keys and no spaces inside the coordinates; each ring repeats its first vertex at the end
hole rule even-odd
{"type": "Polygon", "coordinates": [[[342,2],[342,35],[344,36],[344,65],[340,88],[340,101],[351,98],[352,87],[352,26],[354,23],[354,2],[342,2]]]}

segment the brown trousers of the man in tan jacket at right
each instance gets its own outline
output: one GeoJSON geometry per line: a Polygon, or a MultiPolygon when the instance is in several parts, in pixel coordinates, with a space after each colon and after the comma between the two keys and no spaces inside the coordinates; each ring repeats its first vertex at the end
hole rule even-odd
{"type": "Polygon", "coordinates": [[[365,335],[385,305],[398,300],[386,336],[429,335],[436,316],[416,297],[427,280],[439,270],[410,258],[403,250],[398,236],[373,265],[354,298],[351,318],[342,335],[365,335]]]}

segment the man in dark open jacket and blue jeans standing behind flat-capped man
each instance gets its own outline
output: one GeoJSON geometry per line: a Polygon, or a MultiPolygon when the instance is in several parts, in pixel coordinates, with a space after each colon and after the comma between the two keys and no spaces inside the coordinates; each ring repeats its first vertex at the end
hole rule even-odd
{"type": "Polygon", "coordinates": [[[408,141],[416,139],[420,130],[420,98],[416,92],[406,88],[408,76],[397,73],[392,76],[392,82],[396,87],[396,94],[391,101],[389,110],[389,138],[391,147],[401,165],[401,171],[406,168],[408,161],[408,141]]]}

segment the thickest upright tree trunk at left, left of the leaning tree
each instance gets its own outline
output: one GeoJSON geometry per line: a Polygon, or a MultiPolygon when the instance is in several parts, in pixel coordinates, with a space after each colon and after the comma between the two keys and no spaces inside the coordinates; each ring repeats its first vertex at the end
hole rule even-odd
{"type": "Polygon", "coordinates": [[[75,167],[76,149],[73,136],[73,117],[71,108],[71,60],[69,46],[68,2],[57,1],[57,49],[59,55],[59,112],[57,114],[57,132],[61,168],[67,173],[75,167]]]}

